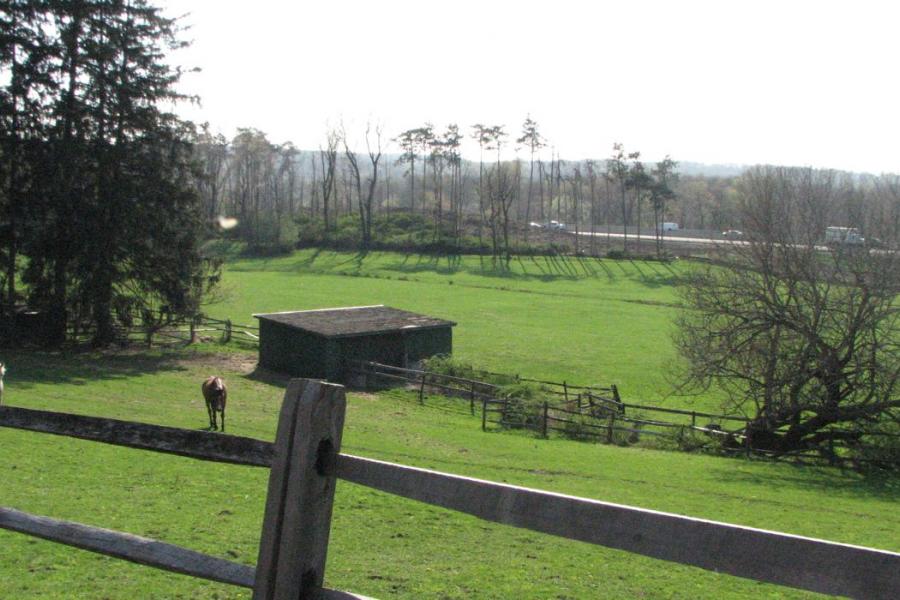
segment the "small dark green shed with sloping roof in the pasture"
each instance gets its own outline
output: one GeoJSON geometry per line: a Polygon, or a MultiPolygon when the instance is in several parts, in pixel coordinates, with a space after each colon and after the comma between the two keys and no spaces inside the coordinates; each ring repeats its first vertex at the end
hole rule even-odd
{"type": "Polygon", "coordinates": [[[453,349],[453,321],[389,306],[352,306],[253,315],[259,364],[294,377],[346,381],[348,364],[398,367],[453,349]]]}

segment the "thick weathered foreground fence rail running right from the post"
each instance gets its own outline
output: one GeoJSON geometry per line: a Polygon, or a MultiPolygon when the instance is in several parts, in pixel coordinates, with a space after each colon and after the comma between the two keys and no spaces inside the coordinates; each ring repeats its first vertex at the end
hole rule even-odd
{"type": "Polygon", "coordinates": [[[826,594],[891,598],[900,554],[341,454],[346,481],[481,519],[826,594]]]}

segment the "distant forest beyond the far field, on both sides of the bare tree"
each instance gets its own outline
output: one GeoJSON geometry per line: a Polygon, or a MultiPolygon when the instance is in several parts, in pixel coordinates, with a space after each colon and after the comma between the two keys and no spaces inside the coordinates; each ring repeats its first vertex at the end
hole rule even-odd
{"type": "MultiPolygon", "coordinates": [[[[663,222],[710,233],[743,228],[741,167],[716,166],[713,172],[726,175],[714,176],[668,157],[642,162],[639,151],[621,144],[606,158],[580,161],[548,156],[547,147],[530,118],[515,132],[481,124],[390,134],[335,128],[314,151],[273,143],[252,128],[231,140],[203,130],[195,143],[197,185],[209,218],[236,218],[233,235],[259,252],[298,241],[384,247],[416,233],[418,245],[501,255],[533,247],[542,239],[538,225],[558,227],[551,222],[569,232],[653,232],[663,222]],[[480,160],[460,155],[464,136],[478,143],[480,160]]],[[[832,176],[837,185],[823,198],[832,206],[829,224],[863,233],[886,223],[896,228],[900,180],[832,176]]]]}

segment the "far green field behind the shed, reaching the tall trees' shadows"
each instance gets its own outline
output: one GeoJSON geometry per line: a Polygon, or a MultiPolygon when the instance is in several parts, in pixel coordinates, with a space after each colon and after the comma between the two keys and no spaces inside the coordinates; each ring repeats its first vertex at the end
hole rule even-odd
{"type": "Polygon", "coordinates": [[[677,396],[671,334],[675,277],[685,267],[644,261],[490,258],[305,250],[227,263],[214,317],[387,304],[456,321],[453,353],[488,370],[615,383],[626,401],[717,410],[715,394],[677,396]]]}

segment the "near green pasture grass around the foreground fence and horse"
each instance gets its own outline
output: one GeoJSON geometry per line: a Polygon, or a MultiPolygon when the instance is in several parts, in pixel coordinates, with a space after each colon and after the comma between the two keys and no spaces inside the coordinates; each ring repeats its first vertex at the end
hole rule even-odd
{"type": "MultiPolygon", "coordinates": [[[[396,285],[396,283],[395,283],[396,285]]],[[[446,285],[446,284],[445,284],[446,285]]],[[[274,309],[274,308],[273,308],[274,309]]],[[[4,402],[201,428],[200,382],[229,384],[229,433],[272,439],[284,381],[208,349],[16,352],[4,402]]],[[[267,472],[0,428],[0,505],[256,560],[267,472]]],[[[344,451],[454,473],[900,550],[900,481],[832,469],[482,433],[477,418],[404,392],[351,394],[344,451]]],[[[760,557],[765,560],[765,557],[760,557]]],[[[327,584],[405,598],[807,597],[498,526],[341,483],[327,584]]],[[[0,598],[245,598],[0,532],[0,598]]]]}

